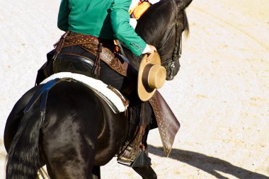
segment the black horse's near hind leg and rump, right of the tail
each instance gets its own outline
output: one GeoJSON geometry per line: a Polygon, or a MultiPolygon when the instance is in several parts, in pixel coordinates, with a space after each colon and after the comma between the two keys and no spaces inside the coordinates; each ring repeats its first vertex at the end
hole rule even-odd
{"type": "Polygon", "coordinates": [[[53,179],[93,178],[103,111],[87,87],[67,83],[57,84],[47,98],[42,149],[48,173],[53,179]]]}

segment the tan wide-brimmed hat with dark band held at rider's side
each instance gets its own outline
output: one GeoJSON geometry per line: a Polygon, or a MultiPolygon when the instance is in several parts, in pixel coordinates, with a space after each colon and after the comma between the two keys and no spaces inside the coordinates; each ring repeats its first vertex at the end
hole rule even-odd
{"type": "Polygon", "coordinates": [[[156,88],[161,88],[166,81],[166,69],[161,66],[158,52],[153,55],[145,54],[139,66],[137,92],[140,100],[151,98],[156,88]]]}

